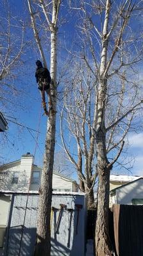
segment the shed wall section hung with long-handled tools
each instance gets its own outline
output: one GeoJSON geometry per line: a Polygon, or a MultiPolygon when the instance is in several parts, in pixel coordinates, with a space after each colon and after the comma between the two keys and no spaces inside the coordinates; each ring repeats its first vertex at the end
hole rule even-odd
{"type": "Polygon", "coordinates": [[[64,209],[63,211],[58,230],[55,230],[55,228],[59,216],[59,211],[54,211],[51,232],[51,256],[84,256],[86,243],[86,205],[84,201],[84,196],[52,196],[52,206],[59,209],[60,204],[66,205],[66,209],[64,209]],[[79,211],[78,227],[78,211],[77,207],[75,206],[76,204],[82,205],[82,209],[80,209],[79,211]],[[68,209],[73,209],[71,223],[71,212],[68,211],[68,209]]]}

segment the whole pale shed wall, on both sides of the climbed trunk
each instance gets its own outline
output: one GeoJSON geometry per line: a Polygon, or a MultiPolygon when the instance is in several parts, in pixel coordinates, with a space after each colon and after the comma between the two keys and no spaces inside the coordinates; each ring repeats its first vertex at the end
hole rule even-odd
{"type": "MultiPolygon", "coordinates": [[[[36,241],[38,195],[13,195],[10,228],[4,256],[33,256],[36,241]],[[26,213],[25,223],[24,215],[26,213]],[[24,224],[24,228],[22,225],[24,224]],[[22,234],[23,232],[23,234],[22,234]],[[21,239],[22,238],[22,239],[21,239]]],[[[12,205],[11,205],[12,206],[12,205]]],[[[54,207],[51,228],[51,256],[84,256],[86,243],[86,198],[84,195],[53,195],[54,207]],[[60,218],[60,204],[66,205],[60,218]],[[78,211],[76,205],[82,205],[78,211]],[[70,211],[68,211],[70,209],[70,211]],[[71,213],[72,212],[72,213],[71,213]],[[59,224],[57,225],[57,221],[59,224]],[[57,227],[58,226],[58,227],[57,227]]]]}

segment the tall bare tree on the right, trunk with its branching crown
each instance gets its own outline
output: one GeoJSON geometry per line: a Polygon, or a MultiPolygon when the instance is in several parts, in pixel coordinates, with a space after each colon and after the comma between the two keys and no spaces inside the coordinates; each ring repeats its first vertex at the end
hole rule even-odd
{"type": "Polygon", "coordinates": [[[85,61],[95,81],[94,146],[98,173],[95,250],[96,256],[105,256],[112,255],[110,170],[119,160],[124,138],[130,129],[133,131],[133,120],[137,120],[142,109],[143,98],[138,83],[142,31],[138,18],[143,6],[142,1],[133,3],[130,0],[74,3],[70,1],[70,8],[79,13],[78,51],[73,49],[72,54],[85,61]]]}

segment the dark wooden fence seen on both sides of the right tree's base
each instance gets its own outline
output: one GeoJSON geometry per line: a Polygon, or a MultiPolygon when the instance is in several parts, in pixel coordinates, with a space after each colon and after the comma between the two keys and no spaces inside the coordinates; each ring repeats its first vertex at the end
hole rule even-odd
{"type": "MultiPolygon", "coordinates": [[[[87,239],[94,239],[96,210],[87,212],[87,239]]],[[[116,256],[143,256],[143,205],[114,205],[109,233],[116,256]]]]}

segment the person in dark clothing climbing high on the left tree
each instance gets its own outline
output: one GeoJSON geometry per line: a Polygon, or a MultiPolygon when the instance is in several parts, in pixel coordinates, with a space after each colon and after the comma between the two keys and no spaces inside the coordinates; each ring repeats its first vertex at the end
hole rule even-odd
{"type": "Polygon", "coordinates": [[[41,61],[37,60],[36,61],[36,82],[38,83],[38,89],[40,90],[41,93],[41,99],[43,102],[43,109],[45,111],[46,115],[49,115],[49,111],[52,110],[52,97],[50,93],[50,72],[47,68],[44,68],[41,61]],[[46,102],[45,102],[45,92],[49,96],[49,111],[47,111],[46,107],[46,102]]]}

